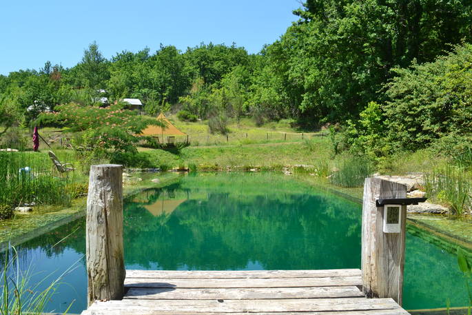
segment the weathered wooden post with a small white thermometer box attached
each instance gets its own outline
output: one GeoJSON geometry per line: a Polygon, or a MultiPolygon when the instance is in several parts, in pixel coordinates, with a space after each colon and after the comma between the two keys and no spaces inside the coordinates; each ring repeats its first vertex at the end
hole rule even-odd
{"type": "Polygon", "coordinates": [[[407,198],[407,186],[378,177],[365,179],[362,205],[362,290],[369,298],[393,298],[402,305],[407,206],[401,207],[400,233],[383,232],[384,207],[378,199],[407,198]]]}

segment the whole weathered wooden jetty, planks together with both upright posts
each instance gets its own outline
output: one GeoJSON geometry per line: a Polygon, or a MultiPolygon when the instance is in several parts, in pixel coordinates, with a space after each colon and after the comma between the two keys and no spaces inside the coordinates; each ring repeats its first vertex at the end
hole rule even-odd
{"type": "MultiPolygon", "coordinates": [[[[383,234],[383,211],[376,206],[378,199],[406,196],[403,185],[366,179],[362,272],[357,269],[125,271],[121,172],[121,165],[93,165],[90,171],[89,307],[83,315],[409,314],[400,307],[404,221],[401,233],[383,234]]],[[[406,212],[406,206],[401,209],[406,212]]]]}

